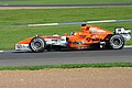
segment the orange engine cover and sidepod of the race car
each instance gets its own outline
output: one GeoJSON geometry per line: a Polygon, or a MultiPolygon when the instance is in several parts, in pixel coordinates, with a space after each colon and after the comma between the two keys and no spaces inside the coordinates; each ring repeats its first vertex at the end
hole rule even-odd
{"type": "Polygon", "coordinates": [[[68,36],[68,45],[69,47],[87,47],[99,43],[109,34],[113,33],[98,26],[82,26],[81,32],[76,32],[75,35],[68,36]]]}

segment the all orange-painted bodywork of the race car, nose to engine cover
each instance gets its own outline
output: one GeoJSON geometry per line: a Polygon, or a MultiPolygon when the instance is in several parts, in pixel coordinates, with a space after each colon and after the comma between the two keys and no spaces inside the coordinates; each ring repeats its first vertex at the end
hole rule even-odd
{"type": "MultiPolygon", "coordinates": [[[[106,30],[106,29],[100,29],[98,26],[82,26],[81,32],[75,32],[72,35],[58,35],[58,36],[53,36],[53,35],[46,35],[46,36],[40,36],[44,40],[61,40],[62,36],[66,36],[67,40],[67,46],[72,48],[77,48],[77,47],[88,47],[92,44],[97,44],[100,41],[105,40],[107,35],[113,34],[112,32],[106,30]]],[[[30,44],[33,37],[25,38],[18,44],[30,44]]]]}

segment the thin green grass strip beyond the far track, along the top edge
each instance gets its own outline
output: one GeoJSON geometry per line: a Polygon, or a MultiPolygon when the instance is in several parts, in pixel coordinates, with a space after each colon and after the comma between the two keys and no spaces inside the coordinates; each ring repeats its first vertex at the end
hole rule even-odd
{"type": "Polygon", "coordinates": [[[132,0],[1,0],[0,4],[90,4],[132,2],[132,0]]]}

